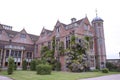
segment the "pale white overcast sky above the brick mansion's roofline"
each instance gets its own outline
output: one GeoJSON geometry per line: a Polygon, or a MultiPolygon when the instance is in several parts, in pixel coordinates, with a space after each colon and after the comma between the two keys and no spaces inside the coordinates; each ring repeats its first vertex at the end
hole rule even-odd
{"type": "Polygon", "coordinates": [[[40,35],[43,26],[53,30],[57,20],[69,24],[71,18],[79,20],[87,14],[91,22],[95,9],[104,20],[107,58],[119,58],[119,0],[0,0],[0,23],[40,35]]]}

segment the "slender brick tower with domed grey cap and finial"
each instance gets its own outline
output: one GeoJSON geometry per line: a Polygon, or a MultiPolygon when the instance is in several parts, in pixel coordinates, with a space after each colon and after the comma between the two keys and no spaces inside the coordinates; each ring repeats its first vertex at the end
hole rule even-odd
{"type": "Polygon", "coordinates": [[[94,27],[94,50],[96,67],[99,69],[106,67],[106,48],[104,38],[103,19],[98,17],[96,11],[96,17],[92,20],[92,26],[94,27]]]}

